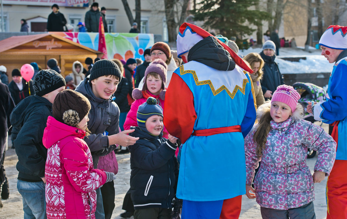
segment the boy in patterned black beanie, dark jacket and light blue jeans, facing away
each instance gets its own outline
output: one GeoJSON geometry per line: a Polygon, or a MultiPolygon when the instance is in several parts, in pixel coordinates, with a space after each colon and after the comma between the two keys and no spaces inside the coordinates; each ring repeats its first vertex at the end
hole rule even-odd
{"type": "Polygon", "coordinates": [[[24,218],[47,218],[44,177],[47,149],[42,137],[48,116],[53,116],[53,100],[65,86],[64,78],[56,71],[39,71],[33,82],[35,95],[20,101],[10,115],[18,156],[17,189],[23,198],[24,218]]]}

